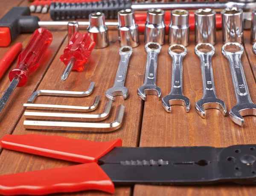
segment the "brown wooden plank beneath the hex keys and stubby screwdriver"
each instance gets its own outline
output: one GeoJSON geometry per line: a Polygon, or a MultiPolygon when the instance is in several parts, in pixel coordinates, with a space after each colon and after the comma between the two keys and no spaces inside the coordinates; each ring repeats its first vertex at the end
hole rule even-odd
{"type": "MultiPolygon", "coordinates": [[[[90,82],[96,83],[96,88],[93,94],[89,97],[81,98],[62,98],[62,97],[50,97],[40,96],[35,99],[35,103],[48,103],[48,104],[63,104],[63,105],[90,105],[92,99],[96,95],[100,95],[101,102],[99,108],[96,111],[91,112],[92,114],[98,114],[102,111],[105,102],[108,100],[105,97],[105,91],[113,86],[113,82],[116,75],[116,70],[119,65],[119,44],[116,31],[110,32],[111,45],[104,49],[93,50],[90,60],[82,72],[73,71],[69,78],[62,82],[60,76],[64,70],[64,65],[60,62],[59,57],[62,54],[64,47],[67,44],[67,39],[61,46],[58,54],[50,65],[44,79],[41,81],[39,89],[48,90],[69,90],[69,91],[85,91],[87,90],[90,82]]],[[[143,39],[143,37],[141,37],[143,39]]],[[[142,41],[142,40],[141,40],[142,41]]],[[[144,65],[145,65],[146,54],[144,52],[144,45],[140,45],[138,48],[134,48],[134,53],[131,56],[130,64],[128,68],[128,75],[126,85],[129,89],[130,96],[125,101],[122,97],[116,97],[113,103],[111,116],[102,122],[111,122],[114,118],[116,107],[120,104],[125,105],[125,119],[122,127],[116,131],[106,134],[88,134],[88,133],[70,133],[64,132],[52,132],[52,131],[33,131],[25,130],[23,128],[24,116],[21,117],[17,124],[13,134],[47,134],[47,135],[59,135],[67,136],[75,139],[88,139],[93,141],[109,141],[112,139],[121,138],[123,139],[123,146],[137,146],[140,136],[140,125],[142,121],[142,101],[137,96],[137,87],[143,83],[144,65]],[[144,55],[141,55],[143,51],[144,55]]],[[[30,94],[28,94],[29,96],[30,94]]],[[[49,159],[39,156],[33,156],[24,153],[17,153],[8,150],[3,150],[0,156],[0,174],[7,173],[18,173],[30,170],[41,170],[47,168],[58,168],[74,163],[49,159]],[[10,164],[12,162],[12,164],[10,164]]],[[[85,174],[86,175],[86,174],[85,174]]],[[[67,195],[105,195],[99,192],[81,192],[71,193],[67,195]],[[91,194],[90,194],[91,195],[91,194]]],[[[130,187],[117,187],[116,195],[130,195],[130,187]]],[[[64,195],[64,194],[59,194],[64,195]]]]}

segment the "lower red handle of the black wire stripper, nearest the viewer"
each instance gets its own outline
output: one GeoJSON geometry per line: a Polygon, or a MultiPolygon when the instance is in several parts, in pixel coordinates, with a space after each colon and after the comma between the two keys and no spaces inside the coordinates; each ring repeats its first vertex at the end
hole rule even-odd
{"type": "Polygon", "coordinates": [[[114,193],[115,188],[96,163],[0,176],[1,195],[45,195],[82,190],[114,193]]]}

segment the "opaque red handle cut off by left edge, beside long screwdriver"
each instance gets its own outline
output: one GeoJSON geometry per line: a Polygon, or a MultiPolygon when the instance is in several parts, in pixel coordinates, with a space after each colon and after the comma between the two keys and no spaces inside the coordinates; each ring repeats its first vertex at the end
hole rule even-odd
{"type": "Polygon", "coordinates": [[[22,50],[22,43],[16,43],[10,48],[0,60],[0,79],[22,50]]]}

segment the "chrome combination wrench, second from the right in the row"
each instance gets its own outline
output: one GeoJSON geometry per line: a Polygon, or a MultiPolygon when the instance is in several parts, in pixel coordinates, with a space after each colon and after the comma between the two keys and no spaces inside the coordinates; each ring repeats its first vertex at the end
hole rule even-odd
{"type": "Polygon", "coordinates": [[[201,61],[201,72],[203,79],[204,95],[202,99],[195,103],[197,113],[205,118],[207,109],[218,109],[225,116],[227,107],[221,99],[218,99],[215,91],[215,84],[212,71],[212,56],[215,53],[215,48],[209,43],[199,43],[195,46],[195,54],[198,55],[201,61]]]}

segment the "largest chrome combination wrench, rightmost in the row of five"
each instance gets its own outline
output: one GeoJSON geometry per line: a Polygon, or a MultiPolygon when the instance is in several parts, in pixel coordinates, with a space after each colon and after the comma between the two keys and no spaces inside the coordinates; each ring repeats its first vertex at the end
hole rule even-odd
{"type": "Polygon", "coordinates": [[[243,126],[244,118],[242,116],[256,116],[256,104],[250,98],[243,65],[241,63],[241,55],[244,52],[244,48],[239,43],[230,42],[223,45],[221,51],[229,61],[236,93],[236,105],[230,110],[230,118],[236,124],[243,126]]]}

